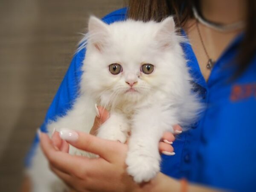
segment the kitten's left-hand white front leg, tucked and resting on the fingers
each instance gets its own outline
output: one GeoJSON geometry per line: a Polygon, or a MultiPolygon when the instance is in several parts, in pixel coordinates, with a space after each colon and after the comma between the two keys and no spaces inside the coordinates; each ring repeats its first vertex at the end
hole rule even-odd
{"type": "Polygon", "coordinates": [[[108,120],[98,129],[97,137],[125,143],[129,131],[128,119],[120,113],[111,113],[108,120]]]}

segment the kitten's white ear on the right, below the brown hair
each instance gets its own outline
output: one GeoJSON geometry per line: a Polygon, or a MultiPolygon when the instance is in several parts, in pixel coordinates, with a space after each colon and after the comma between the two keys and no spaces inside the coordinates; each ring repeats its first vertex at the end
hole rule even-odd
{"type": "Polygon", "coordinates": [[[159,29],[155,36],[155,40],[162,48],[170,47],[174,43],[175,23],[173,17],[167,17],[159,23],[159,29]]]}

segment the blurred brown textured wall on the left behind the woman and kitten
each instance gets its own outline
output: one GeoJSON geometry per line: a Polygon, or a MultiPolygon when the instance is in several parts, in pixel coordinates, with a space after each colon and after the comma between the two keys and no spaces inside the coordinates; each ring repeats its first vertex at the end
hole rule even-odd
{"type": "Polygon", "coordinates": [[[0,1],[0,192],[17,192],[23,159],[90,14],[123,0],[0,1]]]}

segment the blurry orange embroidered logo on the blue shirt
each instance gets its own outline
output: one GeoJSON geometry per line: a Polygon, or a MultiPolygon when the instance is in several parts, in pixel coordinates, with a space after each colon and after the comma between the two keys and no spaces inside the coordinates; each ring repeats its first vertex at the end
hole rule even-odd
{"type": "Polygon", "coordinates": [[[256,98],[256,83],[236,84],[232,87],[230,100],[233,102],[250,97],[256,98]]]}

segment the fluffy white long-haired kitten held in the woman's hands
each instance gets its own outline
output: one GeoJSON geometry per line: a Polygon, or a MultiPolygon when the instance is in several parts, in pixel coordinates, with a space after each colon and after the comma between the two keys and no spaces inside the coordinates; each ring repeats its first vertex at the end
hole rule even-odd
{"type": "MultiPolygon", "coordinates": [[[[127,172],[138,183],[149,181],[160,171],[163,132],[195,122],[201,108],[180,46],[184,40],[172,17],[160,23],[125,20],[110,25],[90,17],[83,41],[87,51],[79,96],[65,116],[49,122],[49,133],[54,128],[88,133],[95,104],[104,106],[110,117],[97,136],[125,143],[131,131],[127,172]]],[[[70,154],[81,151],[70,148],[70,154]]],[[[62,192],[64,184],[56,184],[60,180],[46,166],[38,149],[30,169],[34,192],[62,192]]]]}

